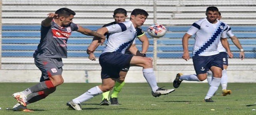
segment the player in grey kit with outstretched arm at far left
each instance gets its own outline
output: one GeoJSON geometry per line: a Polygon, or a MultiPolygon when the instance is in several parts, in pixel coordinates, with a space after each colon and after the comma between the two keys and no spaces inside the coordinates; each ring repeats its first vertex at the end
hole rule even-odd
{"type": "Polygon", "coordinates": [[[74,11],[60,8],[55,13],[49,13],[42,21],[40,43],[33,54],[35,65],[42,76],[38,84],[13,94],[18,101],[13,107],[14,111],[30,111],[27,109],[28,104],[44,99],[64,82],[62,58],[67,58],[67,39],[73,31],[105,39],[104,35],[73,23],[74,15],[74,11]]]}

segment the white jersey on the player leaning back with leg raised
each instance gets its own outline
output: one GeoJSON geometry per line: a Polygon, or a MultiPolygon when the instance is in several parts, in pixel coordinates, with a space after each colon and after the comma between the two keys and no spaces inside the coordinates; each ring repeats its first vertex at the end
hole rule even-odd
{"type": "Polygon", "coordinates": [[[131,21],[117,23],[115,25],[106,26],[109,35],[106,46],[102,53],[105,52],[120,52],[125,53],[125,50],[133,43],[136,37],[136,29],[131,21]]]}

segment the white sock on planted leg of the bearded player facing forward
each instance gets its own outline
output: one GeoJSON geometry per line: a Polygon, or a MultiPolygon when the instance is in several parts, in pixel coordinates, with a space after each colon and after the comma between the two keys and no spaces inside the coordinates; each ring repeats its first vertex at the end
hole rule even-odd
{"type": "Polygon", "coordinates": [[[219,84],[221,84],[221,78],[212,77],[212,83],[204,99],[209,99],[218,90],[219,84]]]}

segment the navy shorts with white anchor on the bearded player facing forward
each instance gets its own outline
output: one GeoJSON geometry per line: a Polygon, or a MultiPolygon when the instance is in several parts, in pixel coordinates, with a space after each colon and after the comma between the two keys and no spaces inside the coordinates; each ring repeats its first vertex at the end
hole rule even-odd
{"type": "Polygon", "coordinates": [[[223,60],[220,54],[212,56],[193,56],[192,59],[197,75],[205,74],[211,66],[217,66],[223,70],[223,60]]]}

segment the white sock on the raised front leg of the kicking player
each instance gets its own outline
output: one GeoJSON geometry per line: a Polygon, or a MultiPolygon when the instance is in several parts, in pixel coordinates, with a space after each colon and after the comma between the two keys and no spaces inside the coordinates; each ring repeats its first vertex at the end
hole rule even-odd
{"type": "Polygon", "coordinates": [[[143,76],[145,77],[147,83],[151,87],[152,92],[156,92],[159,88],[156,83],[156,77],[154,75],[153,68],[142,69],[143,76]]]}

